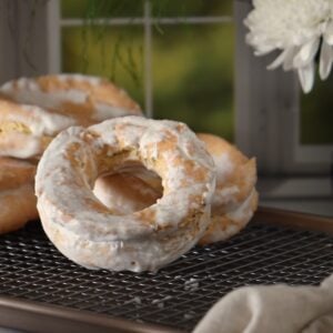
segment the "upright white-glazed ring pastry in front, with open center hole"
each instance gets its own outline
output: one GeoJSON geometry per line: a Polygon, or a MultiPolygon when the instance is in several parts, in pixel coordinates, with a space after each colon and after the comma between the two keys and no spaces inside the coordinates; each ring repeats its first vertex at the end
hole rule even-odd
{"type": "Polygon", "coordinates": [[[90,269],[135,272],[155,271],[198,242],[214,185],[212,158],[185,124],[141,117],[61,132],[36,176],[41,222],[60,252],[90,269]],[[93,195],[93,183],[138,164],[161,176],[163,195],[117,215],[93,195]]]}

